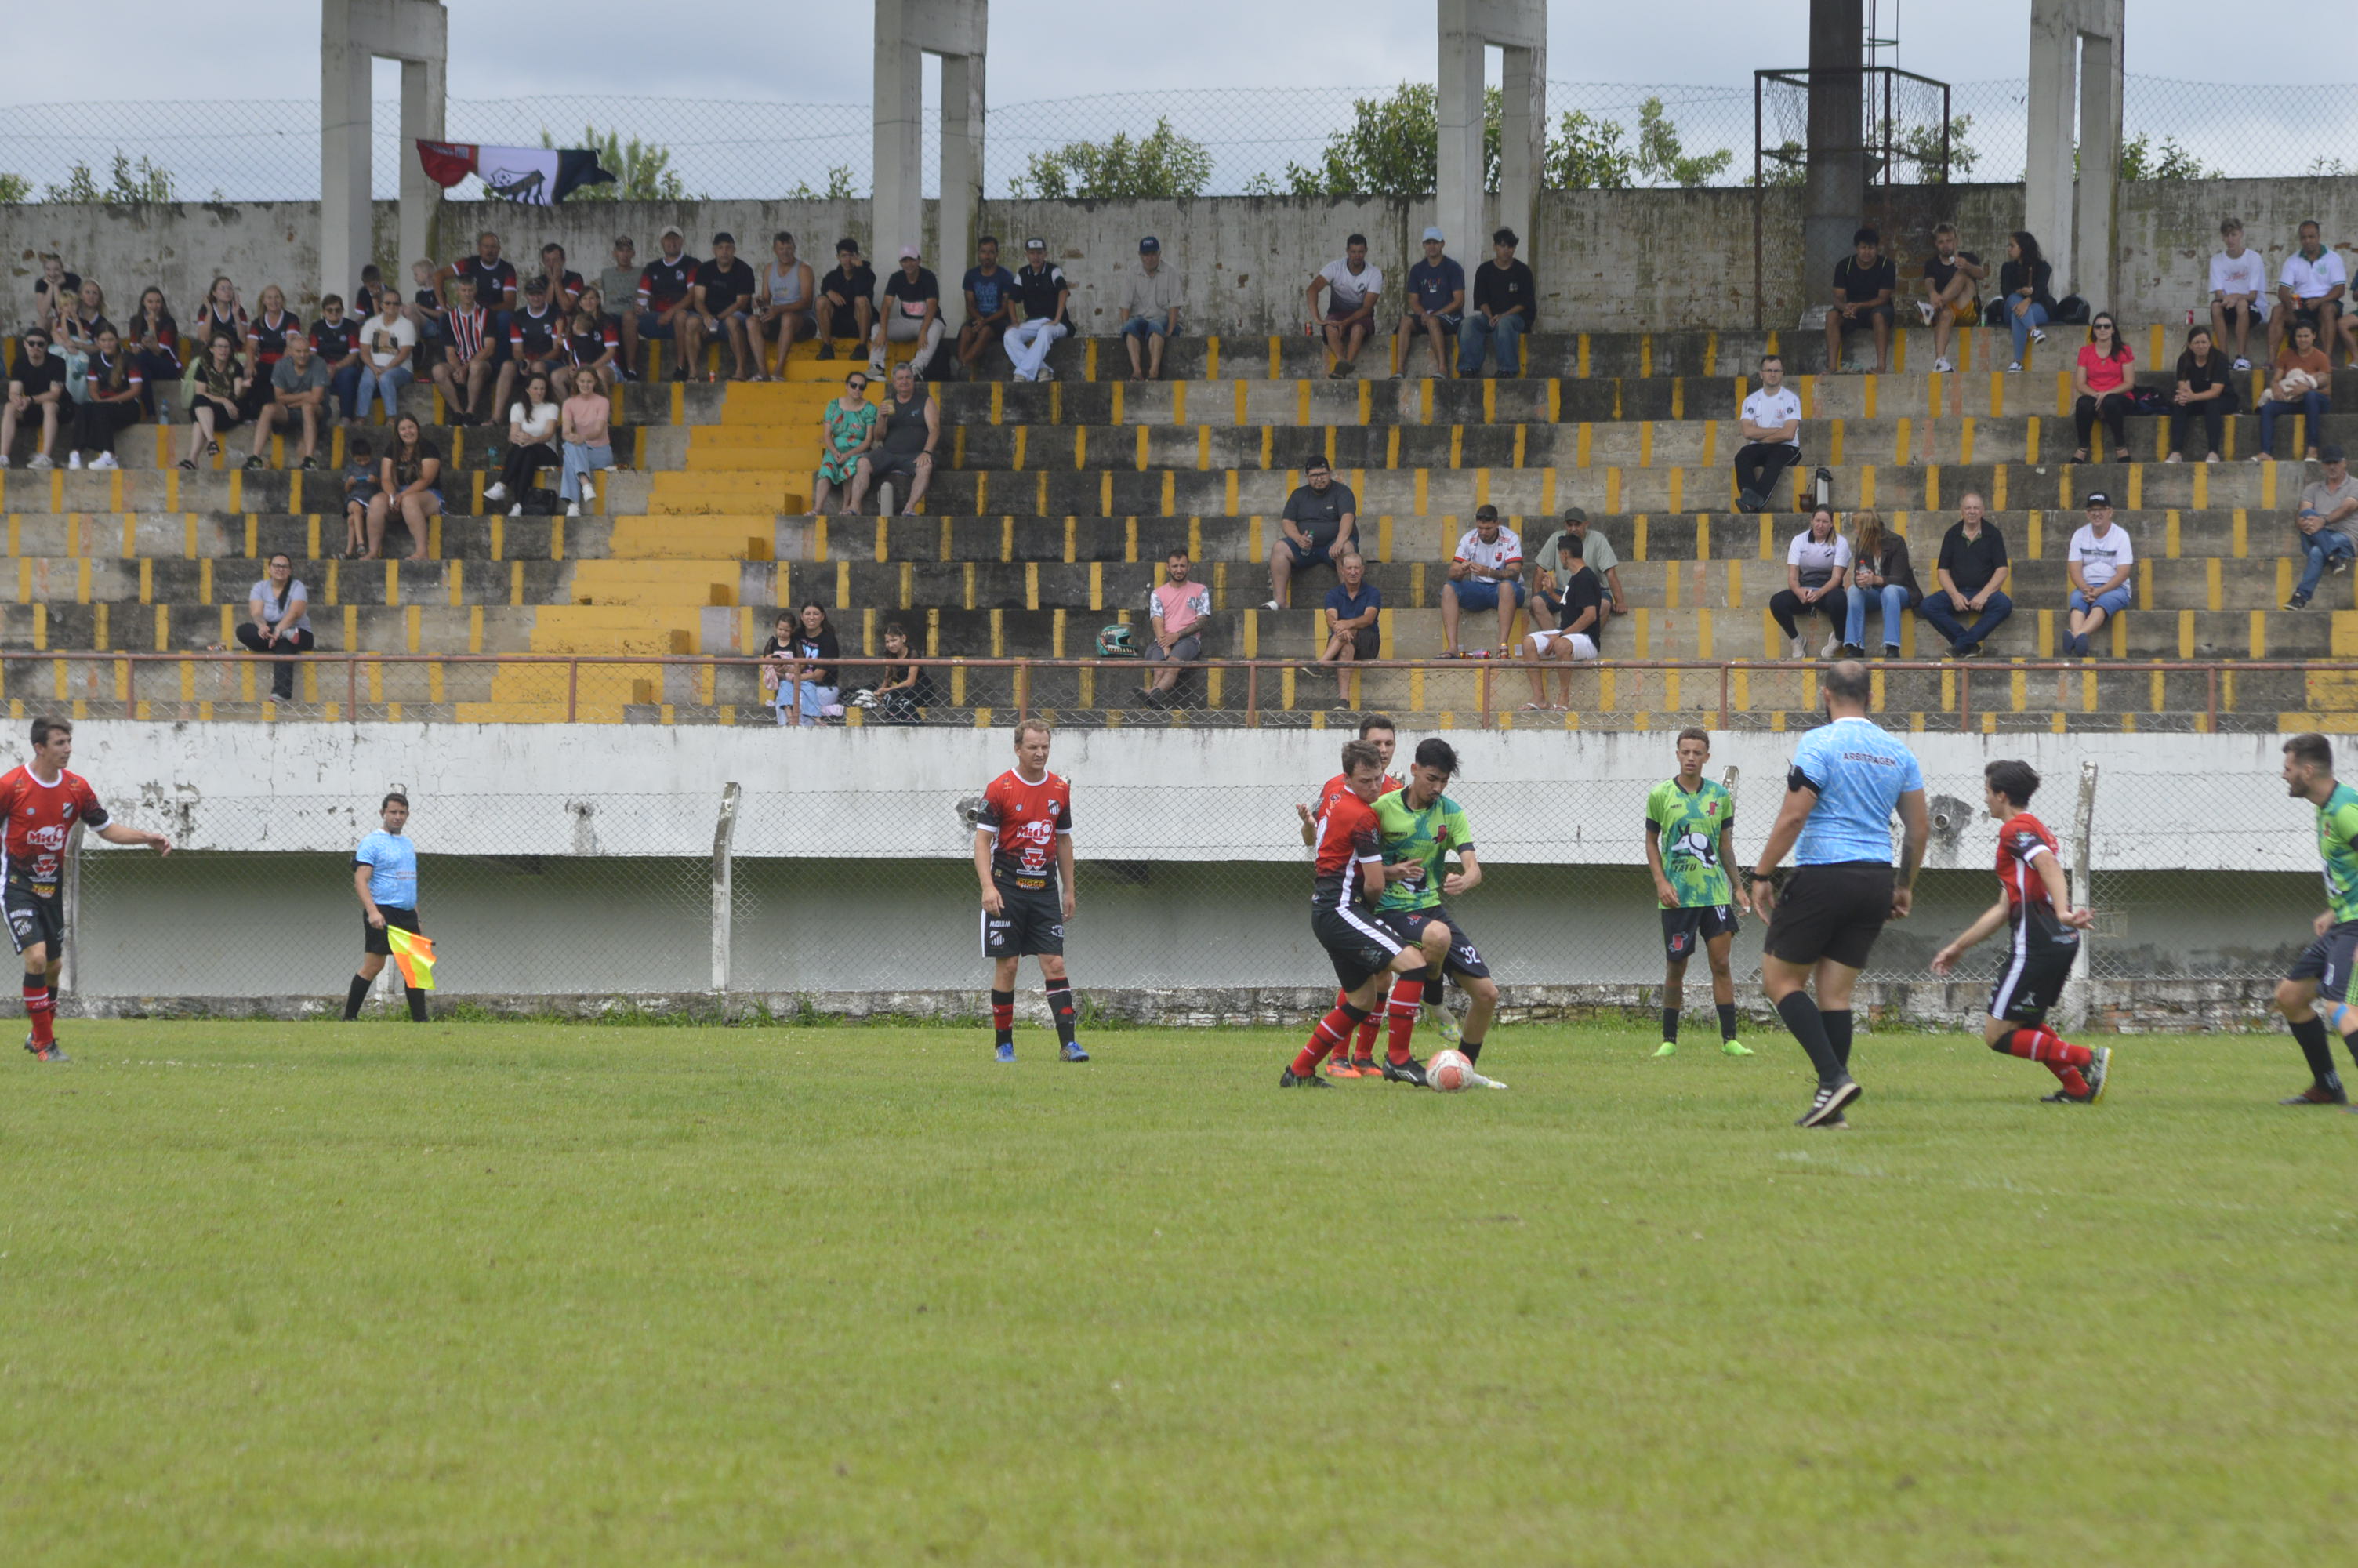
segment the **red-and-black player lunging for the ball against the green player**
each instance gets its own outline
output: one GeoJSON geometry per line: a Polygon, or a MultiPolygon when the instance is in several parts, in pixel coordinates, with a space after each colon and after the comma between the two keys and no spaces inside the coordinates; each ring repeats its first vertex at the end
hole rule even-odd
{"type": "Polygon", "coordinates": [[[1445,927],[1431,927],[1431,943],[1410,946],[1363,908],[1363,901],[1372,905],[1387,879],[1384,835],[1375,811],[1368,809],[1368,802],[1384,795],[1382,747],[1372,740],[1346,740],[1337,778],[1342,790],[1323,792],[1313,818],[1318,861],[1311,872],[1311,934],[1335,960],[1335,983],[1342,993],[1311,1030],[1309,1045],[1278,1075],[1280,1089],[1325,1089],[1318,1063],[1346,1049],[1353,1030],[1375,1016],[1384,981],[1420,969],[1438,971],[1448,957],[1445,927]]]}

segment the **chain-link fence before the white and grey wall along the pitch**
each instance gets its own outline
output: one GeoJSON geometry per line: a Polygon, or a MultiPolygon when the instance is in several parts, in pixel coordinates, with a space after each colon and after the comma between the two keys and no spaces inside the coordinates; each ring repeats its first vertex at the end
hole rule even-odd
{"type": "MultiPolygon", "coordinates": [[[[792,778],[790,759],[780,769],[792,778]]],[[[981,785],[894,788],[854,762],[783,790],[745,790],[733,811],[719,785],[420,795],[420,908],[441,950],[441,990],[457,1000],[971,990],[981,785]]],[[[1082,986],[1318,986],[1330,969],[1309,934],[1309,851],[1295,811],[1313,788],[1309,778],[1078,778],[1068,953],[1082,986]]],[[[1646,778],[1453,783],[1483,868],[1453,908],[1502,986],[1662,979],[1644,832],[1651,788],[1646,778]]],[[[1738,854],[1750,858],[1785,780],[1764,769],[1733,788],[1738,854]]],[[[1915,915],[1884,931],[1875,981],[1929,981],[1931,955],[1997,894],[1997,823],[1983,811],[1981,776],[1934,776],[1926,795],[1934,835],[1915,915]]],[[[2308,806],[2283,802],[2268,780],[2125,773],[2099,778],[2082,799],[2077,778],[2051,776],[2035,804],[2068,868],[2089,856],[2094,979],[2264,981],[2306,946],[2318,910],[2316,872],[2299,870],[2311,856],[2308,806]],[[2209,816],[2209,799],[2191,809],[2188,790],[2217,795],[2219,830],[2141,837],[2155,811],[2172,823],[2209,816]]],[[[167,858],[85,844],[71,988],[337,993],[361,922],[351,858],[323,846],[358,842],[373,806],[215,797],[165,809],[163,825],[189,844],[167,858]]],[[[153,809],[132,816],[156,821],[153,809]]],[[[1761,924],[1747,920],[1735,941],[1743,981],[1759,979],[1759,941],[1761,924]]],[[[1981,981],[1995,962],[1993,943],[1962,979],[1981,981]]],[[[1705,981],[1698,964],[1691,990],[1705,981]]]]}

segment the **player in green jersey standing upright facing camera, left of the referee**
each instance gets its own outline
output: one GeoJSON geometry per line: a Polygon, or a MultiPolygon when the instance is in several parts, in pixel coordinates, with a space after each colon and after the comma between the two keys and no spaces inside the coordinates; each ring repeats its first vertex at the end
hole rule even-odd
{"type": "Polygon", "coordinates": [[[1646,868],[1653,870],[1653,896],[1662,905],[1662,1047],[1655,1056],[1679,1049],[1679,1009],[1686,1002],[1686,960],[1702,943],[1712,960],[1712,1000],[1719,1004],[1719,1049],[1750,1056],[1735,1037],[1735,974],[1728,969],[1728,943],[1735,941],[1735,894],[1728,889],[1728,861],[1735,856],[1735,797],[1726,785],[1702,776],[1712,759],[1712,736],[1702,729],[1679,731],[1679,776],[1665,778],[1646,797],[1646,868]]]}

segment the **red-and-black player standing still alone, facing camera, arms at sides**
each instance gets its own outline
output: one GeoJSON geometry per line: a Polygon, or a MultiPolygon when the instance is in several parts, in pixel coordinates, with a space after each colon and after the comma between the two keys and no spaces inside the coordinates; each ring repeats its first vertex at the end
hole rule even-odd
{"type": "Polygon", "coordinates": [[[990,780],[974,818],[974,877],[983,884],[983,957],[997,1059],[1016,1059],[1016,969],[1040,960],[1047,1009],[1066,1061],[1087,1061],[1073,1037],[1073,981],[1063,927],[1073,920],[1073,785],[1047,771],[1049,726],[1016,726],[1016,766],[990,780]]]}

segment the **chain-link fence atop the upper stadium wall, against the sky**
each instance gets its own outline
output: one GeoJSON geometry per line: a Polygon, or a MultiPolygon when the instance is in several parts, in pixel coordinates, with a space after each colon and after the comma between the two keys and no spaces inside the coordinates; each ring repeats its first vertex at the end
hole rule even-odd
{"type": "MultiPolygon", "coordinates": [[[[1429,92],[1429,90],[1427,90],[1429,92]]],[[[1955,83],[1950,125],[1952,182],[2014,182],[2023,174],[2028,90],[2021,80],[1955,83]]],[[[1295,189],[1292,170],[1318,170],[1325,149],[1361,127],[1375,137],[1415,130],[1415,113],[1387,113],[1387,87],[1200,87],[1113,92],[1026,104],[993,104],[986,134],[983,191],[1014,196],[1033,160],[1075,141],[1132,144],[1167,125],[1198,167],[1200,196],[1295,189]]],[[[1717,184],[1752,179],[1752,87],[1549,83],[1552,167],[1587,184],[1717,184]],[[1578,116],[1566,125],[1566,116],[1578,116]],[[1724,153],[1724,156],[1721,156],[1724,153]],[[1580,170],[1578,177],[1570,172],[1580,170]]],[[[245,99],[233,113],[217,101],[130,99],[104,104],[0,106],[0,174],[28,182],[38,198],[90,172],[90,200],[113,184],[125,153],[130,191],[170,200],[316,200],[316,99],[245,99]],[[106,132],[92,132],[92,125],[106,132]],[[146,160],[146,170],[139,163],[146,160]],[[167,189],[151,174],[167,174],[167,189]]],[[[1903,132],[1926,134],[1924,106],[1903,104],[1903,132]]],[[[1427,106],[1429,118],[1429,106],[1427,106]]],[[[2254,87],[2127,80],[2127,177],[2273,177],[2337,174],[2358,160],[2358,85],[2254,87]]],[[[868,104],[769,104],[552,94],[450,99],[446,137],[502,146],[580,144],[590,130],[615,137],[625,163],[644,170],[637,196],[778,200],[795,196],[868,196],[872,189],[868,104]],[[639,144],[639,156],[630,156],[639,144]]],[[[938,170],[941,106],[927,106],[927,193],[938,170]]],[[[1429,134],[1424,130],[1422,134],[1429,134]]],[[[1799,127],[1766,125],[1764,141],[1804,139],[1799,127]]],[[[394,99],[375,104],[375,193],[399,196],[413,153],[401,144],[394,99]]],[[[1908,163],[1908,167],[1919,167],[1908,163]]],[[[1912,174],[1903,172],[1901,179],[1912,174]]],[[[479,198],[474,182],[457,198],[479,198]]]]}

